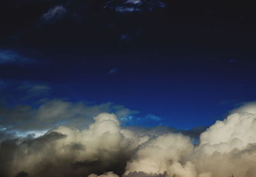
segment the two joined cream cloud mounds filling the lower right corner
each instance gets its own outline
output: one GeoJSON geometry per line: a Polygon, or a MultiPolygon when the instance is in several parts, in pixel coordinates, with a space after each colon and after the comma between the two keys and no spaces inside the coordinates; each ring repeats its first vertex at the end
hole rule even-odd
{"type": "Polygon", "coordinates": [[[149,139],[127,163],[126,176],[255,176],[256,106],[238,108],[200,135],[198,146],[180,134],[149,139]]]}

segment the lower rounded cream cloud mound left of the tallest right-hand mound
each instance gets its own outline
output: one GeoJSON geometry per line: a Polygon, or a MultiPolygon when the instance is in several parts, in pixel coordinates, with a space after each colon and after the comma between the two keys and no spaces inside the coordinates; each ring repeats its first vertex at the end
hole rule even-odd
{"type": "Polygon", "coordinates": [[[176,169],[176,166],[179,166],[178,171],[182,174],[184,171],[180,162],[186,162],[192,152],[193,145],[188,137],[182,134],[164,134],[141,145],[136,152],[136,158],[127,164],[125,174],[134,171],[148,174],[170,171],[172,174],[172,169],[176,169]]]}

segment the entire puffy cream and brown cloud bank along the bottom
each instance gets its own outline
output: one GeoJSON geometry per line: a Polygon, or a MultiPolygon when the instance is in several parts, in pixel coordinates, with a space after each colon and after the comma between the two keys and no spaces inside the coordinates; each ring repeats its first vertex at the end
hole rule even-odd
{"type": "Polygon", "coordinates": [[[61,125],[37,138],[0,134],[0,176],[253,177],[255,134],[254,111],[217,121],[198,145],[180,133],[125,128],[115,114],[99,113],[84,129],[61,125]]]}

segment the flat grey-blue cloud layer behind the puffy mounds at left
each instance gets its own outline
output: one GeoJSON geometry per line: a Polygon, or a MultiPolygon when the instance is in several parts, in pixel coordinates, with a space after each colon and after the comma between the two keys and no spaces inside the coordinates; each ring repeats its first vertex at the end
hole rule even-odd
{"type": "Polygon", "coordinates": [[[43,101],[36,108],[20,104],[12,108],[0,108],[0,125],[7,131],[19,132],[44,131],[58,125],[83,129],[92,123],[95,115],[106,111],[113,111],[118,117],[138,113],[138,111],[132,111],[113,103],[90,106],[81,102],[71,103],[61,99],[52,99],[43,101]]]}

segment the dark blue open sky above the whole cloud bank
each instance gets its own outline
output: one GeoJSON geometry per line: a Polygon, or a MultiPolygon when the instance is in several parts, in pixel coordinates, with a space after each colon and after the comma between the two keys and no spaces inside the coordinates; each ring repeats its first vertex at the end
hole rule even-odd
{"type": "Polygon", "coordinates": [[[2,107],[110,102],[140,112],[124,125],[192,129],[255,101],[250,4],[129,2],[1,2],[2,107]]]}

